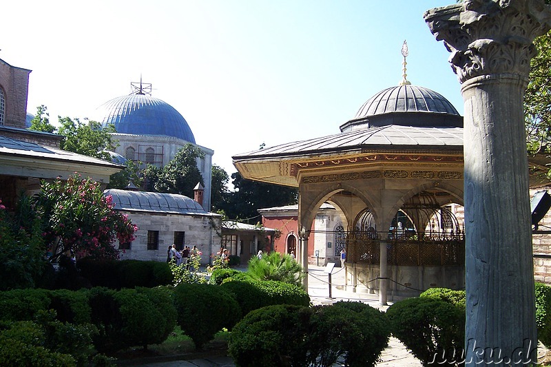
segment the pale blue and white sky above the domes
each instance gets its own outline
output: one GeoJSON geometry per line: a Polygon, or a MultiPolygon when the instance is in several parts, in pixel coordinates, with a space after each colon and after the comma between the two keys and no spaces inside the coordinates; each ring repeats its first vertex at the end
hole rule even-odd
{"type": "Polygon", "coordinates": [[[373,94],[402,79],[463,114],[449,53],[423,14],[454,1],[8,1],[0,59],[32,70],[28,112],[93,118],[152,83],[231,175],[231,156],[337,134],[373,94]]]}

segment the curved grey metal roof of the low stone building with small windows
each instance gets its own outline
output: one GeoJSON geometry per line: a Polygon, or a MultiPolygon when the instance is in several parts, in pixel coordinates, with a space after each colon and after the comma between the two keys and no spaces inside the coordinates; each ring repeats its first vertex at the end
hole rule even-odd
{"type": "Polygon", "coordinates": [[[115,203],[114,209],[118,210],[194,216],[220,216],[219,214],[205,211],[195,200],[176,193],[108,189],[103,191],[103,194],[105,196],[112,196],[115,203]]]}

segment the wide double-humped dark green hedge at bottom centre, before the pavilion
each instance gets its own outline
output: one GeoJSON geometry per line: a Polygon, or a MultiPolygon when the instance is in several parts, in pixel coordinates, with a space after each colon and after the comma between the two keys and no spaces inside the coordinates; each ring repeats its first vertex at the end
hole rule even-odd
{"type": "Polygon", "coordinates": [[[237,366],[374,366],[388,345],[384,314],[356,302],[279,304],[251,311],[233,328],[237,366]]]}

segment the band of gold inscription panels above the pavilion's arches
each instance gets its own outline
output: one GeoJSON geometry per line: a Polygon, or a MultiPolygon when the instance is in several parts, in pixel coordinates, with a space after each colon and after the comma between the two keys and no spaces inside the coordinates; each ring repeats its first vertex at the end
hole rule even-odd
{"type": "Polygon", "coordinates": [[[408,171],[386,169],[383,171],[363,171],[344,174],[304,176],[301,184],[366,180],[370,178],[424,179],[424,180],[463,180],[463,171],[408,171]]]}

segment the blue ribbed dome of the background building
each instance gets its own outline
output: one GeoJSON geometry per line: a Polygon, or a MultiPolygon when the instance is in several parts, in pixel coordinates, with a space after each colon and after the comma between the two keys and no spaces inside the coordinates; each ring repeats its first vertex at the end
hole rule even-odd
{"type": "Polygon", "coordinates": [[[103,127],[112,123],[119,134],[174,136],[195,144],[187,121],[168,103],[135,93],[107,101],[96,110],[103,127]]]}

